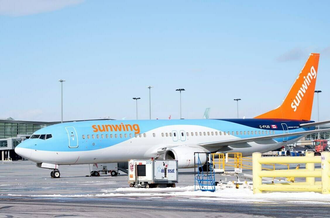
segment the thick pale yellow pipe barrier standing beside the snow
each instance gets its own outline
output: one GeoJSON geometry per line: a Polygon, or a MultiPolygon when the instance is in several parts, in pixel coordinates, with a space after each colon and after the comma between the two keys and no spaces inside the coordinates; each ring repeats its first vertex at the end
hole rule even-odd
{"type": "Polygon", "coordinates": [[[321,156],[306,152],[301,157],[261,157],[261,153],[252,154],[253,193],[262,191],[314,191],[330,194],[330,152],[323,151],[321,156]],[[263,171],[262,164],[306,163],[306,169],[263,171]],[[315,163],[321,169],[315,169],[315,163]],[[262,177],[306,177],[306,182],[262,184],[262,177]],[[315,182],[321,177],[321,182],[315,182]]]}

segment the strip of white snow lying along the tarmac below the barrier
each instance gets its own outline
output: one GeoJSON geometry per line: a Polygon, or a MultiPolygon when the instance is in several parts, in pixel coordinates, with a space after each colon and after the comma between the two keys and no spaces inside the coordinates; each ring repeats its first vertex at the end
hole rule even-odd
{"type": "MultiPolygon", "coordinates": [[[[315,192],[272,192],[253,194],[248,189],[217,189],[215,192],[194,191],[194,186],[176,187],[176,188],[117,188],[110,190],[102,190],[102,194],[86,194],[86,195],[30,195],[27,197],[181,197],[193,200],[210,200],[213,201],[241,201],[241,202],[304,202],[306,204],[330,204],[330,195],[323,195],[315,192]]],[[[24,196],[8,194],[7,196],[24,196]]]]}

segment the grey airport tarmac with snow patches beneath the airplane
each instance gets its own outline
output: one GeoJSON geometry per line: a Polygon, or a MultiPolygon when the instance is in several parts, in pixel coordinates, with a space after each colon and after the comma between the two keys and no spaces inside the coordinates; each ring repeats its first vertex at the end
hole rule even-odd
{"type": "MultiPolygon", "coordinates": [[[[273,198],[266,193],[255,198],[251,192],[236,190],[195,192],[193,169],[180,169],[177,187],[165,189],[129,188],[125,173],[86,177],[88,165],[60,166],[59,170],[60,178],[50,178],[50,170],[37,168],[31,161],[0,161],[0,218],[330,217],[330,196],[318,201],[321,195],[316,193],[309,200],[304,196],[313,193],[299,198],[291,193],[273,198]]],[[[216,174],[216,180],[220,179],[237,178],[216,174]]]]}

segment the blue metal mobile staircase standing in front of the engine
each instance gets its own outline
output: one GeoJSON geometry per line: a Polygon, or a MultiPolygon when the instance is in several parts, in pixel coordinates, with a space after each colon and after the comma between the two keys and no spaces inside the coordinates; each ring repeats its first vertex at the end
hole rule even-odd
{"type": "MultiPolygon", "coordinates": [[[[213,170],[213,160],[210,152],[195,152],[195,191],[196,182],[202,191],[215,191],[215,172],[213,170]],[[206,163],[201,163],[200,155],[207,155],[208,159],[206,163]],[[197,161],[197,163],[196,163],[197,161]],[[204,166],[205,165],[205,166],[204,166]],[[196,172],[197,167],[197,172],[196,172]]],[[[199,190],[199,189],[197,189],[199,190]]]]}

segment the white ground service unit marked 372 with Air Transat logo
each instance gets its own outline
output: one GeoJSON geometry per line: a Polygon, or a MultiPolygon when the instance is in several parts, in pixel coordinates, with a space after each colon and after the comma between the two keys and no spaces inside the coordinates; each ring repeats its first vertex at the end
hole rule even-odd
{"type": "Polygon", "coordinates": [[[177,160],[130,160],[128,162],[130,187],[175,187],[178,182],[177,160]]]}

